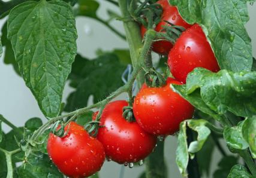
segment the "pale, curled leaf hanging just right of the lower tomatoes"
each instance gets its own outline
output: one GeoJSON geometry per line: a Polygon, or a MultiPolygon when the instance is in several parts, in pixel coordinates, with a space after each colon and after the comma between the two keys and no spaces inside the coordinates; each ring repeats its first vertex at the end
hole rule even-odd
{"type": "Polygon", "coordinates": [[[194,154],[201,150],[206,142],[207,137],[210,134],[210,129],[205,125],[209,123],[203,119],[191,119],[183,121],[180,124],[180,131],[178,136],[178,146],[176,151],[176,163],[179,167],[180,173],[183,176],[186,176],[185,171],[188,166],[189,155],[191,158],[194,158],[194,154]],[[186,125],[189,128],[198,133],[197,140],[190,143],[188,146],[187,137],[186,137],[186,125]]]}

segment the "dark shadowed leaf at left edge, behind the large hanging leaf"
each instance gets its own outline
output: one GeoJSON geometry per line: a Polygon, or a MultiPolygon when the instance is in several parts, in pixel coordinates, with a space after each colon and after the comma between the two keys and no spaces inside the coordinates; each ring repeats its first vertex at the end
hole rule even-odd
{"type": "Polygon", "coordinates": [[[4,50],[4,63],[6,65],[13,65],[15,72],[20,75],[19,66],[15,60],[13,47],[11,47],[11,41],[7,38],[7,22],[2,26],[2,45],[5,47],[4,50]]]}

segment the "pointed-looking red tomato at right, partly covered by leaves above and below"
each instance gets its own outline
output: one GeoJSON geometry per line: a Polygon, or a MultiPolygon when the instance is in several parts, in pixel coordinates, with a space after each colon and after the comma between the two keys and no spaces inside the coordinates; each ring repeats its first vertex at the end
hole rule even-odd
{"type": "Polygon", "coordinates": [[[168,66],[174,78],[184,84],[186,76],[195,67],[204,67],[212,72],[219,71],[212,48],[198,24],[194,24],[177,39],[168,54],[168,66]]]}

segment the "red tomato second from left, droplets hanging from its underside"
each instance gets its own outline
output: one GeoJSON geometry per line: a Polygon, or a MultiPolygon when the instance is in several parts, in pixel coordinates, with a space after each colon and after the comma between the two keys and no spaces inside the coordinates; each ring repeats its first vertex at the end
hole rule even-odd
{"type": "Polygon", "coordinates": [[[146,158],[156,145],[156,137],[146,133],[137,122],[122,117],[122,109],[128,106],[124,100],[109,103],[101,115],[102,127],[97,139],[103,143],[107,158],[119,164],[137,162],[146,158]]]}

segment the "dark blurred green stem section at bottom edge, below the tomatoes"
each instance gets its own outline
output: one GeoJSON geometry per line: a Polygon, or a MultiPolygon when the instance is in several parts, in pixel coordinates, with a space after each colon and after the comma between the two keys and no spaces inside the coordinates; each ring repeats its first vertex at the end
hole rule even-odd
{"type": "Polygon", "coordinates": [[[158,142],[155,151],[146,159],[147,178],[166,178],[167,167],[164,161],[164,142],[158,142]]]}

